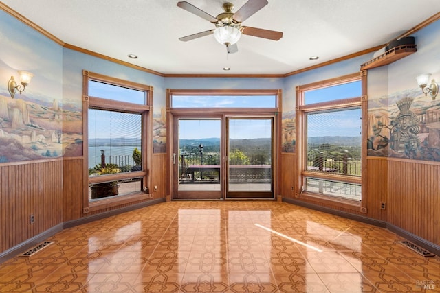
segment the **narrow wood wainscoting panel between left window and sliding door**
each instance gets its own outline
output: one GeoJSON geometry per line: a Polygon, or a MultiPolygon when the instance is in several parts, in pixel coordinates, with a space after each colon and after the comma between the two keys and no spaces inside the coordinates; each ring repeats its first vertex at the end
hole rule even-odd
{"type": "Polygon", "coordinates": [[[151,186],[148,186],[154,198],[166,197],[167,173],[166,173],[166,154],[153,154],[151,164],[151,186]],[[157,189],[154,187],[157,186],[157,189]]]}

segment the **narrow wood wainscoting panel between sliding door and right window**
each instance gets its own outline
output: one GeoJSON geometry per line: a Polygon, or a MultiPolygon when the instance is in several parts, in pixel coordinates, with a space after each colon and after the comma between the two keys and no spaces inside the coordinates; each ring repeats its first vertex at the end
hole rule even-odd
{"type": "Polygon", "coordinates": [[[295,197],[296,154],[281,153],[281,195],[283,198],[295,197]],[[293,190],[292,190],[293,189],[293,190]]]}

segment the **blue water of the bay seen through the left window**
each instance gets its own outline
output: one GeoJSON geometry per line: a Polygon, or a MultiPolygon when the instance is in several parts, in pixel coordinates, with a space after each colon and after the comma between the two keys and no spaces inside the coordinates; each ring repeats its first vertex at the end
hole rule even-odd
{"type": "Polygon", "coordinates": [[[101,150],[105,150],[106,163],[116,163],[118,165],[135,165],[135,163],[133,162],[133,158],[131,157],[135,148],[137,148],[137,150],[141,150],[141,145],[89,146],[89,168],[93,168],[101,163],[101,150]]]}

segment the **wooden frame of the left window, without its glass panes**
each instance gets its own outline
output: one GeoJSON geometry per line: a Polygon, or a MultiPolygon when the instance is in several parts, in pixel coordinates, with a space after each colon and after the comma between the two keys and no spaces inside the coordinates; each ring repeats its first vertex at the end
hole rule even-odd
{"type": "Polygon", "coordinates": [[[115,207],[121,204],[129,204],[131,202],[137,202],[139,200],[145,200],[150,198],[146,197],[144,190],[148,190],[150,186],[150,176],[148,176],[148,171],[151,169],[151,159],[152,155],[152,145],[151,145],[151,129],[152,129],[152,102],[153,102],[153,87],[144,84],[139,84],[136,82],[130,82],[127,80],[121,80],[118,78],[112,78],[107,75],[102,75],[99,73],[92,73],[89,71],[83,71],[83,213],[89,213],[91,211],[98,211],[100,209],[107,209],[109,207],[115,207]],[[107,84],[115,86],[123,86],[129,89],[135,89],[138,91],[145,92],[144,104],[134,104],[131,102],[120,102],[113,99],[105,99],[102,97],[91,97],[88,95],[89,80],[94,80],[97,82],[104,82],[107,84]],[[142,115],[142,126],[141,126],[141,139],[142,139],[142,170],[133,172],[122,172],[118,174],[108,174],[104,176],[89,176],[89,108],[94,108],[98,110],[111,110],[121,113],[137,113],[142,115]],[[109,196],[108,198],[102,198],[100,200],[89,200],[89,185],[96,183],[104,183],[115,180],[125,180],[130,178],[142,178],[142,190],[135,191],[130,194],[120,195],[120,196],[109,196]]]}

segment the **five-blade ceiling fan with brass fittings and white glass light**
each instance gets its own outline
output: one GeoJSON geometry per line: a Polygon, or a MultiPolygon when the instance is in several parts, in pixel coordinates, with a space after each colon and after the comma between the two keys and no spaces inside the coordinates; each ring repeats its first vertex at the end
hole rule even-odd
{"type": "Polygon", "coordinates": [[[213,23],[216,27],[212,30],[199,32],[197,34],[190,34],[189,36],[183,36],[179,38],[179,40],[186,42],[202,36],[214,34],[214,38],[219,43],[226,46],[228,53],[236,53],[239,50],[236,42],[239,41],[241,34],[257,36],[259,38],[268,38],[270,40],[279,40],[283,37],[283,32],[241,25],[243,21],[248,19],[257,11],[261,10],[261,8],[267,4],[267,0],[248,0],[248,2],[246,2],[237,12],[234,13],[232,12],[234,5],[227,2],[223,3],[224,12],[214,17],[186,1],[178,2],[177,6],[179,6],[179,8],[200,16],[202,19],[206,19],[210,23],[213,23]]]}

